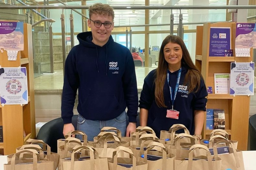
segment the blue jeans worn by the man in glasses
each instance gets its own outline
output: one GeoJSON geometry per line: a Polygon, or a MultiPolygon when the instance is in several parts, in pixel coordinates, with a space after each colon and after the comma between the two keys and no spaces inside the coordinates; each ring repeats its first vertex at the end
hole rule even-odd
{"type": "MultiPolygon", "coordinates": [[[[108,121],[97,121],[97,120],[86,120],[80,114],[77,118],[77,130],[83,131],[87,135],[88,141],[93,141],[93,137],[98,136],[100,129],[106,126],[115,127],[122,133],[122,137],[126,135],[126,127],[128,125],[128,116],[125,111],[117,116],[115,119],[108,121]]],[[[77,136],[78,139],[82,140],[81,135],[77,136]]]]}

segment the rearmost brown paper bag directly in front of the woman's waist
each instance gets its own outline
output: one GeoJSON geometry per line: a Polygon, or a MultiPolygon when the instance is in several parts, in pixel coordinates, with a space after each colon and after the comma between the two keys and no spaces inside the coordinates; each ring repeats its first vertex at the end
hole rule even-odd
{"type": "MultiPolygon", "coordinates": [[[[174,145],[174,138],[178,135],[175,132],[180,129],[183,129],[184,133],[189,135],[188,129],[183,124],[174,124],[169,129],[169,131],[166,131],[166,130],[160,131],[160,143],[174,145]]],[[[188,142],[188,141],[184,141],[184,142],[188,142]]]]}

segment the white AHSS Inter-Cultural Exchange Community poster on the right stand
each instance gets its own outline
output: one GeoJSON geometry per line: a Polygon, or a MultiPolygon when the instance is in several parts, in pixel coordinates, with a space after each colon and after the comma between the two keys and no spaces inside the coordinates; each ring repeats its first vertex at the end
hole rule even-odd
{"type": "Polygon", "coordinates": [[[254,63],[231,63],[230,95],[254,94],[254,63]]]}

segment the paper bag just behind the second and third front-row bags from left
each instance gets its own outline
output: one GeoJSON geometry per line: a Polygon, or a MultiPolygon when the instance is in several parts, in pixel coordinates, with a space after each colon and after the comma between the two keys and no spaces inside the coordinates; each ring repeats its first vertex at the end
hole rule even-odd
{"type": "Polygon", "coordinates": [[[129,147],[129,142],[121,141],[115,135],[103,136],[97,142],[89,144],[99,153],[99,157],[112,158],[113,152],[118,146],[129,147]]]}

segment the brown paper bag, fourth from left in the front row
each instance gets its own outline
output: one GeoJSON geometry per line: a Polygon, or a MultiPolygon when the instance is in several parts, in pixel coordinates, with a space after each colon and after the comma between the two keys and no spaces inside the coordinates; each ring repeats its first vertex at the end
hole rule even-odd
{"type": "MultiPolygon", "coordinates": [[[[203,152],[201,152],[203,153],[203,152]]],[[[188,159],[174,159],[175,170],[221,170],[220,157],[211,156],[209,149],[201,144],[195,144],[189,149],[188,159]],[[193,152],[196,150],[205,150],[206,155],[193,157],[193,152]],[[199,160],[194,160],[199,159],[199,160]],[[212,160],[215,159],[215,160],[212,160]]]]}

